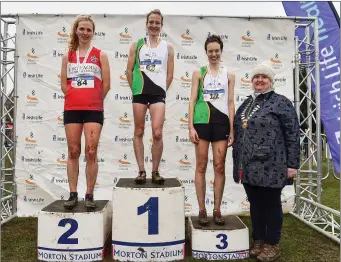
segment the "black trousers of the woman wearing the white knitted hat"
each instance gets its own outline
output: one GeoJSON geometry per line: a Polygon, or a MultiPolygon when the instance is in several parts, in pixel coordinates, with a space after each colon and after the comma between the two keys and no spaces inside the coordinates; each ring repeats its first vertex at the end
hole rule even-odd
{"type": "Polygon", "coordinates": [[[283,224],[282,188],[243,185],[250,202],[252,238],[269,245],[278,244],[283,224]]]}

